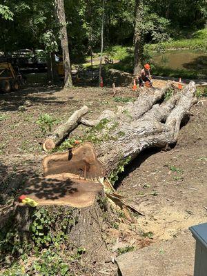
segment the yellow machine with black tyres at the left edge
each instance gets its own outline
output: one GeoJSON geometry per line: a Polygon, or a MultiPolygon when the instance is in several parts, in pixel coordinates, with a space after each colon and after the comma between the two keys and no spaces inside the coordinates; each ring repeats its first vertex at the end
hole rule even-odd
{"type": "Polygon", "coordinates": [[[3,92],[19,90],[19,79],[11,63],[0,63],[0,90],[3,92]]]}

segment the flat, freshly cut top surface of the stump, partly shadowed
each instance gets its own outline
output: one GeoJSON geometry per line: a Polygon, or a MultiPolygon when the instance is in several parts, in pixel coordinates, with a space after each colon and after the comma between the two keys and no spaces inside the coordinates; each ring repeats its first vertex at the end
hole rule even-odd
{"type": "Polygon", "coordinates": [[[72,207],[88,207],[103,190],[103,186],[95,181],[64,178],[63,176],[39,177],[28,180],[25,193],[40,205],[64,205],[72,207]]]}

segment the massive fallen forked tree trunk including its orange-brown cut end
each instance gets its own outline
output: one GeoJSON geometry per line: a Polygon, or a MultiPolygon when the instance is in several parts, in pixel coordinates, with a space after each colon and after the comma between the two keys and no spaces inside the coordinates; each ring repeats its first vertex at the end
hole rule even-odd
{"type": "Polygon", "coordinates": [[[97,134],[98,143],[73,148],[70,158],[67,152],[45,157],[44,172],[71,172],[88,178],[109,176],[115,181],[117,173],[142,150],[175,144],[181,121],[195,100],[196,88],[195,83],[190,82],[168,101],[154,105],[168,89],[171,89],[170,85],[162,90],[143,90],[137,101],[118,108],[116,114],[103,112],[106,117],[102,118],[106,120],[97,134]],[[83,155],[87,149],[90,154],[83,155]]]}

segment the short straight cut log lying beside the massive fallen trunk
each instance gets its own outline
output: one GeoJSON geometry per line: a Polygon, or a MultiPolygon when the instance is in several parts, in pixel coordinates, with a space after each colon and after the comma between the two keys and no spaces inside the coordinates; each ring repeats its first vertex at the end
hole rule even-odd
{"type": "Polygon", "coordinates": [[[68,121],[66,121],[66,123],[61,124],[61,126],[59,126],[59,128],[57,128],[57,130],[55,130],[52,135],[50,135],[48,139],[46,139],[46,141],[44,141],[42,146],[43,150],[52,150],[53,148],[55,148],[55,146],[60,144],[63,138],[65,138],[68,133],[70,133],[72,130],[74,130],[74,128],[77,127],[79,121],[84,115],[86,115],[87,112],[87,106],[83,106],[81,109],[75,111],[70,116],[68,121]]]}

